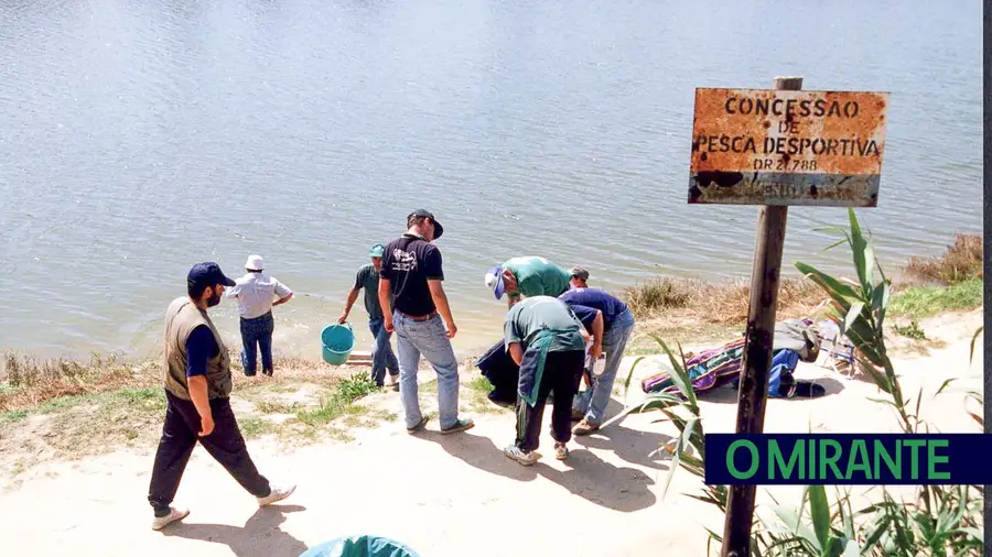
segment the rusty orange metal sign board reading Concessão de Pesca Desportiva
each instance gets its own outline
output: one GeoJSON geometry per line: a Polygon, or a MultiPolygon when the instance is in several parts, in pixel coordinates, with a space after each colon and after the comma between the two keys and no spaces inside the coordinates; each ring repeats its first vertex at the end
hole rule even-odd
{"type": "Polygon", "coordinates": [[[875,207],[887,92],[696,90],[690,204],[875,207]]]}

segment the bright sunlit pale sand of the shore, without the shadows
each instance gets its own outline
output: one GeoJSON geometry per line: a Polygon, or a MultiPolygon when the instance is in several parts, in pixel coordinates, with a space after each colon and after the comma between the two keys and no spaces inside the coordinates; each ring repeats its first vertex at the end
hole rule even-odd
{"type": "MultiPolygon", "coordinates": [[[[963,412],[961,390],[981,389],[981,362],[969,365],[969,342],[981,318],[978,310],[925,321],[927,336],[942,346],[926,356],[904,350],[896,359],[906,394],[915,397],[923,387],[921,414],[944,432],[979,430],[963,412]],[[948,378],[961,379],[932,397],[948,378]]],[[[655,360],[645,362],[635,379],[657,369],[655,360]]],[[[467,379],[475,373],[463,370],[467,379]]],[[[800,364],[797,376],[820,379],[829,394],[770,401],[767,432],[895,429],[891,409],[866,400],[878,396],[873,385],[815,364],[800,364]]],[[[376,396],[377,404],[399,413],[398,394],[376,396]]],[[[433,401],[423,398],[424,409],[433,409],[433,401]]],[[[709,432],[732,430],[734,398],[731,391],[708,397],[709,432]]],[[[614,409],[621,404],[618,396],[614,409]]],[[[263,473],[299,484],[285,504],[265,510],[197,449],[176,501],[192,514],[163,533],[149,529],[151,510],[144,500],[151,449],[47,462],[0,494],[0,539],[7,555],[53,557],[294,557],[308,546],[356,533],[402,540],[424,557],[697,556],[705,555],[704,525],[722,527],[712,509],[681,495],[699,487],[683,471],[662,499],[668,463],[649,454],[675,429],[653,423],[658,414],[630,416],[574,439],[567,462],[549,457],[546,433],[542,452],[549,456],[532,468],[500,452],[513,438],[510,413],[474,417],[477,426],[455,436],[436,434],[433,422],[432,432],[412,437],[395,421],[351,443],[291,451],[272,439],[249,441],[263,473]]],[[[788,502],[798,496],[796,490],[777,493],[788,502]]]]}

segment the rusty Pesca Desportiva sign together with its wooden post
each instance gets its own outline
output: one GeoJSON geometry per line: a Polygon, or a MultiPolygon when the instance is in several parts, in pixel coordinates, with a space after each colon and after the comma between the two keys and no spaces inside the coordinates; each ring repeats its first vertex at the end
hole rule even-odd
{"type": "MultiPolygon", "coordinates": [[[[696,91],[689,203],[762,206],[738,434],[764,429],[788,206],[874,207],[878,198],[888,94],[801,89],[801,77],[778,77],[773,89],[696,91]]],[[[722,557],[751,555],[755,493],[731,487],[722,557]]]]}

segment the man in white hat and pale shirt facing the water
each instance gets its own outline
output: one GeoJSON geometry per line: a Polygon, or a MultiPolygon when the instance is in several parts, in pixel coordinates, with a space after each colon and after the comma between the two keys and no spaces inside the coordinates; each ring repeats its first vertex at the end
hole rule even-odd
{"type": "Polygon", "coordinates": [[[262,273],[265,263],[261,255],[249,255],[245,263],[245,276],[228,291],[227,296],[238,301],[241,317],[241,365],[245,375],[254,376],[257,371],[258,351],[261,351],[262,374],[272,376],[272,332],[276,320],[272,308],[285,304],[293,297],[293,291],[262,273]]]}

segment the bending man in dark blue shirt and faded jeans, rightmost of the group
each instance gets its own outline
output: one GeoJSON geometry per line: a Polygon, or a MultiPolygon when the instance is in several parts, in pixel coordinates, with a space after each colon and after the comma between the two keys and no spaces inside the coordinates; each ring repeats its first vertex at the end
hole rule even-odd
{"type": "MultiPolygon", "coordinates": [[[[600,352],[606,353],[606,365],[600,376],[591,378],[592,387],[586,389],[575,397],[573,412],[584,415],[575,425],[572,433],[575,435],[589,435],[600,428],[600,425],[606,421],[606,405],[613,394],[613,383],[616,381],[616,373],[619,369],[621,361],[624,358],[624,349],[630,335],[634,332],[634,314],[621,299],[612,296],[610,293],[600,288],[576,287],[576,280],[581,280],[581,284],[585,284],[589,278],[589,272],[572,270],[572,288],[561,296],[559,299],[572,307],[580,320],[585,324],[583,316],[587,315],[585,308],[592,308],[602,314],[603,335],[599,349],[595,345],[590,349],[590,357],[595,361],[600,352]],[[583,275],[584,276],[581,276],[583,275]]],[[[599,339],[596,339],[599,341],[599,339]]]]}

